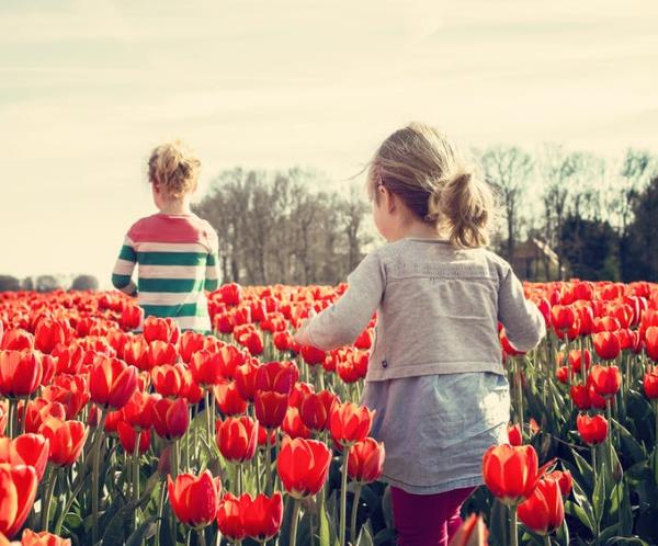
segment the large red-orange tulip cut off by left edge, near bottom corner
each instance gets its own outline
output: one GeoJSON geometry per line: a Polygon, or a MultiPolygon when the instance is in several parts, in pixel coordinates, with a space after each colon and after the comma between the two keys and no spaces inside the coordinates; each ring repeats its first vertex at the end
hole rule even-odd
{"type": "Polygon", "coordinates": [[[13,536],[34,504],[38,479],[31,466],[0,464],[0,535],[13,536]]]}

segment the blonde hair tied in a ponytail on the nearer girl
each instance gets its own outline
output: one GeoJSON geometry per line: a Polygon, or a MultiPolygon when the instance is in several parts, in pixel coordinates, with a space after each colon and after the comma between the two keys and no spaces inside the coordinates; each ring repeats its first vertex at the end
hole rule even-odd
{"type": "Polygon", "coordinates": [[[411,123],[382,143],[367,170],[375,201],[378,185],[398,195],[421,220],[445,230],[453,246],[488,244],[496,213],[492,192],[434,127],[411,123]]]}

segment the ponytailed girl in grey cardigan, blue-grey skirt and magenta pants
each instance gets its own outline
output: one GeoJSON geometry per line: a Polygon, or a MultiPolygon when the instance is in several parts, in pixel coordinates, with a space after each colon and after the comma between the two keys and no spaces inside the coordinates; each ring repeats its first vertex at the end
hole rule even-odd
{"type": "Polygon", "coordinates": [[[377,312],[362,403],[375,410],[372,435],[386,447],[398,544],[443,546],[483,484],[483,454],[508,441],[498,322],[527,351],[545,334],[544,320],[510,265],[485,249],[490,190],[445,136],[417,123],[395,132],[367,181],[388,243],[296,341],[350,344],[377,312]]]}

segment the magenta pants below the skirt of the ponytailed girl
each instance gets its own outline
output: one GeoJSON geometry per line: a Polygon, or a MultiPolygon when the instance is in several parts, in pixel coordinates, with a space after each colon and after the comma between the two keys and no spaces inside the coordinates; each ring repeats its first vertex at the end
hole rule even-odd
{"type": "Polygon", "coordinates": [[[460,528],[462,503],[474,487],[438,494],[411,494],[390,488],[398,546],[447,546],[460,528]]]}

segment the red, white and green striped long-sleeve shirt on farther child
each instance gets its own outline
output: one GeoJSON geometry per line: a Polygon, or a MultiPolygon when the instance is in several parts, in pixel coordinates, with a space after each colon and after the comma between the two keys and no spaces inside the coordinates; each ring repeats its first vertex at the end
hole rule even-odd
{"type": "Polygon", "coordinates": [[[141,218],[125,237],[112,284],[123,292],[136,292],[145,317],[171,317],[181,330],[208,332],[204,291],[217,288],[217,234],[196,215],[141,218]]]}

